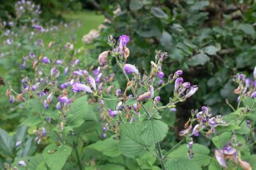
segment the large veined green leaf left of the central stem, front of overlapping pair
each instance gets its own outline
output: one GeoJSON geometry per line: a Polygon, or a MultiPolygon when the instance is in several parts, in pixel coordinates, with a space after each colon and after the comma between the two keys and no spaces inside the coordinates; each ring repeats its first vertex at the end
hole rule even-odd
{"type": "Polygon", "coordinates": [[[147,146],[140,136],[140,124],[126,123],[120,125],[119,149],[126,157],[137,157],[143,153],[147,146]]]}

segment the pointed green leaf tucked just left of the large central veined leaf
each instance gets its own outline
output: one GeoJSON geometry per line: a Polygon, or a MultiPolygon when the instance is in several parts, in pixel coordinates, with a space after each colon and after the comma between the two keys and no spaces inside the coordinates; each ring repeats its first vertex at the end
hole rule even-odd
{"type": "Polygon", "coordinates": [[[109,137],[104,141],[97,141],[97,143],[90,144],[87,148],[100,151],[100,153],[109,157],[117,157],[121,154],[118,149],[118,141],[113,139],[113,137],[109,137]]]}

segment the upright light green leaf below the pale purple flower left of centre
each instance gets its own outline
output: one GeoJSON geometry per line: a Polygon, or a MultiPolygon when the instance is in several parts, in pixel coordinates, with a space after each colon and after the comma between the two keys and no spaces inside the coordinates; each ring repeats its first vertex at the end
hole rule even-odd
{"type": "Polygon", "coordinates": [[[75,128],[81,126],[84,123],[84,118],[86,117],[88,111],[89,106],[87,102],[87,97],[83,96],[77,98],[70,105],[70,114],[72,116],[69,120],[70,127],[75,128]]]}

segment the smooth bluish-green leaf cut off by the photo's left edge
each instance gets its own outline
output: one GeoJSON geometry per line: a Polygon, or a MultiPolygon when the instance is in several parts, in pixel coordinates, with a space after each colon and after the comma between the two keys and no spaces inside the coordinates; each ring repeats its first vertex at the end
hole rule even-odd
{"type": "Polygon", "coordinates": [[[12,141],[5,130],[0,128],[0,153],[12,157],[12,141]]]}

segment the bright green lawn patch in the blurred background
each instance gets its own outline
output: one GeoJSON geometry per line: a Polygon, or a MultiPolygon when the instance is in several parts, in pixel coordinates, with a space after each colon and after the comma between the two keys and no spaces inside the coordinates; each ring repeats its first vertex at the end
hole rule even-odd
{"type": "Polygon", "coordinates": [[[75,33],[77,35],[77,42],[75,45],[78,47],[83,45],[82,37],[86,33],[88,33],[91,29],[97,29],[100,24],[104,21],[104,16],[99,15],[93,11],[82,11],[82,12],[68,12],[63,13],[62,16],[64,17],[67,22],[72,21],[79,21],[81,22],[81,27],[77,28],[75,33]]]}

